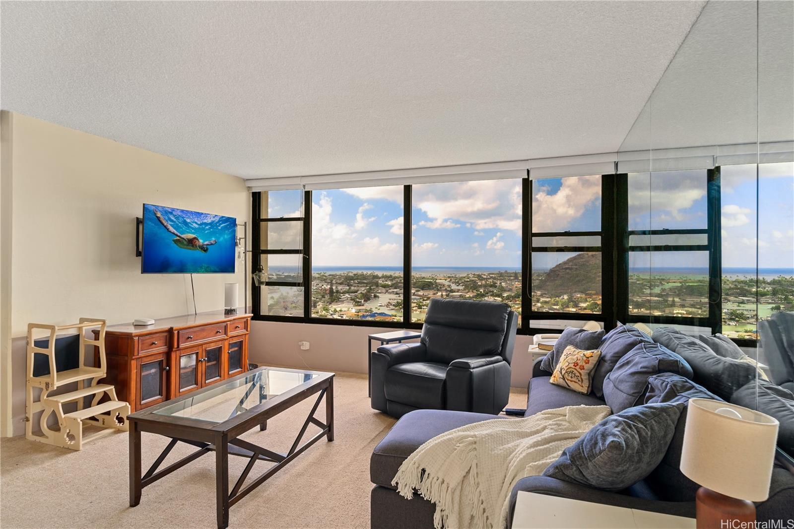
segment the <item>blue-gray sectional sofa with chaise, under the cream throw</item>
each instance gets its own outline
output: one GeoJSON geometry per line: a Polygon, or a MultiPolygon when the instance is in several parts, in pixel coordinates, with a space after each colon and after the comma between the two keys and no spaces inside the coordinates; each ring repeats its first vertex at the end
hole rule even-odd
{"type": "MultiPolygon", "coordinates": [[[[660,336],[669,337],[662,333],[660,336]]],[[[654,338],[656,333],[654,333],[654,338]]],[[[692,397],[720,397],[692,381],[696,370],[680,354],[653,342],[646,334],[630,326],[619,326],[603,337],[603,370],[595,377],[594,391],[580,395],[558,385],[549,384],[551,373],[535,362],[527,397],[526,416],[547,409],[572,405],[611,405],[613,412],[624,406],[652,402],[688,402],[692,397]],[[611,403],[611,404],[610,404],[611,403]]],[[[702,366],[698,366],[703,376],[702,366]]],[[[739,375],[735,384],[741,382],[739,375]]],[[[714,382],[714,380],[708,380],[714,382]]],[[[723,384],[724,385],[724,384],[723,384]]],[[[723,387],[719,382],[718,387],[723,387]]],[[[445,431],[494,419],[493,415],[445,410],[418,410],[403,415],[372,452],[370,478],[372,527],[427,529],[433,527],[434,504],[420,496],[406,500],[391,485],[399,465],[409,454],[430,438],[445,431]]],[[[698,488],[680,472],[680,454],[684,438],[686,410],[680,415],[676,432],[661,463],[649,475],[619,492],[561,481],[554,477],[525,477],[513,488],[511,514],[519,491],[538,492],[646,511],[675,515],[695,515],[695,492],[698,488]]],[[[502,418],[501,420],[510,420],[502,418]]],[[[757,504],[757,519],[794,518],[794,473],[777,464],[773,470],[769,499],[757,504]]]]}

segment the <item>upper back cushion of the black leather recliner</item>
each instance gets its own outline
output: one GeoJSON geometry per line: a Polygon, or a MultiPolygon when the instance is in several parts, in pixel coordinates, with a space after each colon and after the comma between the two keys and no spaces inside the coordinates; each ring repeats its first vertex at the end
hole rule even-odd
{"type": "Polygon", "coordinates": [[[510,305],[495,301],[433,298],[422,326],[427,360],[502,355],[510,305]]]}

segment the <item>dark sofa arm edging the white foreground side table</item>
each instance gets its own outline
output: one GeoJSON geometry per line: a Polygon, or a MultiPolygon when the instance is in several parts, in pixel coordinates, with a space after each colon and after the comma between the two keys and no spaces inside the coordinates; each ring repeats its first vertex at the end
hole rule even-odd
{"type": "Polygon", "coordinates": [[[538,492],[549,496],[570,498],[572,500],[591,501],[596,504],[615,505],[638,509],[640,511],[663,512],[665,514],[695,517],[694,501],[662,501],[628,496],[619,492],[608,492],[599,488],[586,487],[569,481],[558,480],[555,477],[530,476],[524,477],[513,486],[510,493],[510,508],[507,512],[507,527],[513,523],[515,501],[519,491],[538,492]]]}

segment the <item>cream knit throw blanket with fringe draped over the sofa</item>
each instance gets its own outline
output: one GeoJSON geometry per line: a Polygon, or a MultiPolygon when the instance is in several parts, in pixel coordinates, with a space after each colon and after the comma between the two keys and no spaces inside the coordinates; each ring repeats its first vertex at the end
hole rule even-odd
{"type": "Polygon", "coordinates": [[[391,485],[436,504],[436,529],[505,527],[513,485],[539,476],[601,419],[607,406],[569,406],[526,419],[493,419],[450,430],[419,446],[391,485]]]}

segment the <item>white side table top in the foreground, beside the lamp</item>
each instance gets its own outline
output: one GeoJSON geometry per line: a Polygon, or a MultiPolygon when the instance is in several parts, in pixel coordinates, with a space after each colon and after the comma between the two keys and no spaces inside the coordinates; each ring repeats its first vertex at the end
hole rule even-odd
{"type": "Polygon", "coordinates": [[[694,518],[518,492],[512,529],[695,529],[694,518]]]}

